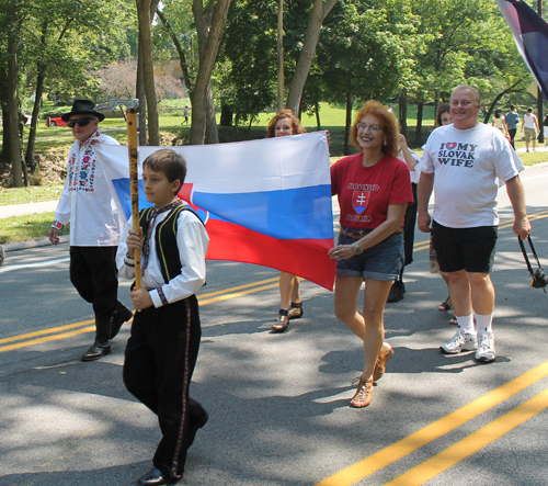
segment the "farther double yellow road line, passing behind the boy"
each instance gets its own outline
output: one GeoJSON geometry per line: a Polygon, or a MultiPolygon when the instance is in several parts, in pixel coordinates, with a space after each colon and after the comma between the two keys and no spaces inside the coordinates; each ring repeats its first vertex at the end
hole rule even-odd
{"type": "MultiPolygon", "coordinates": [[[[199,305],[208,305],[215,302],[227,301],[229,298],[241,297],[242,295],[253,294],[278,285],[278,278],[261,280],[259,282],[247,283],[222,291],[210,292],[198,296],[199,305]]],[[[66,326],[54,327],[26,335],[13,336],[11,338],[0,339],[0,352],[25,348],[27,346],[38,344],[41,342],[55,341],[71,336],[82,335],[95,331],[94,320],[83,320],[81,323],[68,324],[66,326]]]]}

